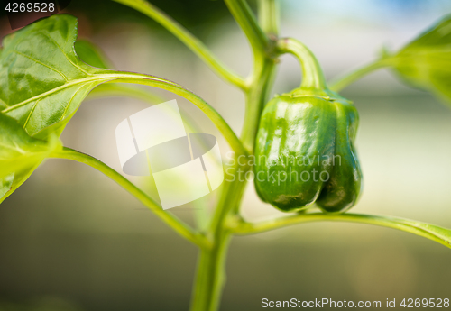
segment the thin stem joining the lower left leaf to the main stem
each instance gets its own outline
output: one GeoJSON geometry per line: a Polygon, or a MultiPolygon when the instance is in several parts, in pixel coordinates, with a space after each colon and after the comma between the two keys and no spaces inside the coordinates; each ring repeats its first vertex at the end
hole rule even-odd
{"type": "Polygon", "coordinates": [[[151,197],[147,196],[143,190],[137,188],[130,182],[127,178],[124,178],[121,174],[119,174],[115,169],[111,169],[104,162],[97,160],[94,157],[91,157],[85,153],[72,150],[70,148],[63,148],[61,151],[53,151],[51,153],[51,158],[58,159],[68,159],[68,160],[76,160],[80,163],[84,163],[89,165],[90,167],[99,170],[104,173],[106,177],[115,180],[115,182],[128,191],[133,197],[136,197],[138,200],[143,203],[144,206],[149,208],[155,215],[161,218],[161,220],[168,224],[175,232],[179,233],[182,237],[187,239],[189,242],[193,242],[203,249],[208,249],[211,244],[207,240],[207,238],[201,233],[195,233],[189,226],[184,224],[179,218],[170,214],[169,212],[165,212],[161,209],[155,201],[152,200],[151,197]]]}

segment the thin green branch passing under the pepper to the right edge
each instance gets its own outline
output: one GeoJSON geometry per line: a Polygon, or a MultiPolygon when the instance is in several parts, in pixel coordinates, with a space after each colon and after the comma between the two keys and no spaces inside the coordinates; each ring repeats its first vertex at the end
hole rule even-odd
{"type": "Polygon", "coordinates": [[[425,237],[429,240],[439,242],[446,247],[451,248],[451,230],[439,227],[434,224],[425,224],[413,220],[391,216],[348,213],[339,215],[313,213],[281,217],[261,223],[246,223],[244,221],[235,219],[231,220],[230,227],[235,234],[245,235],[263,233],[292,224],[305,224],[321,221],[380,225],[382,227],[388,227],[407,233],[413,233],[425,237]]]}

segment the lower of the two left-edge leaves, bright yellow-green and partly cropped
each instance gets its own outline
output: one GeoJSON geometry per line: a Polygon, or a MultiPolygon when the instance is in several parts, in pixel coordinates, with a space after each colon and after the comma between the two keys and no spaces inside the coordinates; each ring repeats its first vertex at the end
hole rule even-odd
{"type": "Polygon", "coordinates": [[[55,135],[49,142],[32,138],[13,118],[0,114],[0,203],[60,148],[55,135]]]}

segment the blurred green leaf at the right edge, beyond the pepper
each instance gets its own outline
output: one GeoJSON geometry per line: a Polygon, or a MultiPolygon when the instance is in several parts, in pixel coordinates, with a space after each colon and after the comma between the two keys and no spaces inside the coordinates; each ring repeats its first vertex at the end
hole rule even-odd
{"type": "Polygon", "coordinates": [[[451,104],[451,15],[387,60],[410,85],[451,104]]]}

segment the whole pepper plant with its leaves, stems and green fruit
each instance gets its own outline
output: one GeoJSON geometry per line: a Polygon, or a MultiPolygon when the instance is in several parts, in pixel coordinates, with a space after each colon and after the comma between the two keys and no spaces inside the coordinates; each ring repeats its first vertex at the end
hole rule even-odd
{"type": "MultiPolygon", "coordinates": [[[[247,78],[227,69],[201,41],[151,3],[114,1],[161,23],[219,77],[244,92],[245,118],[241,135],[232,131],[212,105],[185,87],[144,73],[111,69],[93,44],[77,41],[76,17],[55,14],[6,36],[0,50],[0,202],[13,194],[47,158],[76,160],[97,169],[141,201],[181,237],[198,246],[198,272],[190,306],[195,311],[213,311],[219,307],[225,286],[227,248],[234,235],[262,233],[291,224],[350,222],[398,229],[451,248],[451,231],[437,225],[384,215],[343,213],[357,201],[362,173],[354,147],[358,114],[349,100],[336,93],[373,70],[389,68],[410,85],[428,90],[450,103],[450,16],[400,51],[384,52],[380,59],[327,87],[313,53],[300,41],[280,36],[277,0],[259,0],[258,17],[245,0],[225,0],[252,48],[253,69],[247,78]],[[266,105],[278,59],[286,53],[299,59],[302,84],[289,94],[274,97],[266,105]],[[299,159],[309,154],[339,154],[344,163],[341,166],[320,164],[331,175],[330,180],[323,183],[255,181],[264,201],[282,211],[297,212],[258,223],[247,222],[240,215],[245,178],[226,179],[207,226],[201,230],[191,228],[102,161],[64,147],[60,142],[65,125],[88,94],[133,96],[158,103],[158,96],[131,84],[159,87],[183,96],[207,114],[234,151],[234,159],[225,163],[229,175],[237,175],[240,169],[242,173],[283,171],[289,167],[272,161],[281,156],[299,159]],[[255,168],[249,164],[239,166],[249,161],[238,161],[238,157],[254,154],[268,157],[255,168]],[[321,211],[309,208],[315,205],[321,211]]],[[[312,169],[314,165],[300,170],[312,169]]]]}

